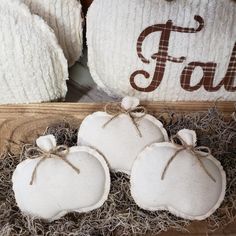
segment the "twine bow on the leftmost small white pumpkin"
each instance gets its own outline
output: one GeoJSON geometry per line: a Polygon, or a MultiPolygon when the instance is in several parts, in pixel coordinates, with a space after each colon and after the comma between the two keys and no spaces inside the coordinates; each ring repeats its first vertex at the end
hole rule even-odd
{"type": "Polygon", "coordinates": [[[50,158],[60,158],[67,165],[69,165],[74,171],[76,171],[77,174],[79,174],[80,170],[66,159],[66,156],[68,155],[68,153],[69,153],[69,148],[66,145],[57,146],[57,147],[51,149],[50,151],[44,151],[39,147],[29,148],[26,151],[26,157],[28,159],[36,159],[36,158],[41,157],[41,159],[38,161],[38,163],[36,164],[36,166],[33,170],[31,180],[30,180],[30,185],[33,185],[38,167],[46,159],[50,159],[50,158]],[[32,155],[32,153],[34,153],[34,154],[32,155]]]}

